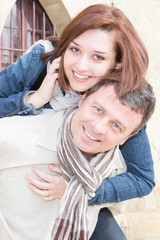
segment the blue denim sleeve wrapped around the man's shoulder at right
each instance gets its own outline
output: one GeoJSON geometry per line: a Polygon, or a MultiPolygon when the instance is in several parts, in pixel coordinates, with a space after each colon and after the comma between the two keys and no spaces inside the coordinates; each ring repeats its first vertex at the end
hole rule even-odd
{"type": "Polygon", "coordinates": [[[146,126],[121,146],[127,172],[105,179],[89,204],[121,202],[149,194],[154,183],[154,168],[146,126]]]}

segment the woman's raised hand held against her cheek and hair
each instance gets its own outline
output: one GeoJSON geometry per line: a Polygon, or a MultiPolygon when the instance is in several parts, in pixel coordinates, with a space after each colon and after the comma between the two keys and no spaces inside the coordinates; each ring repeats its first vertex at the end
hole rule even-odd
{"type": "Polygon", "coordinates": [[[40,88],[28,96],[27,103],[32,103],[35,109],[39,109],[48,103],[58,89],[57,80],[60,60],[61,57],[53,60],[40,88]]]}

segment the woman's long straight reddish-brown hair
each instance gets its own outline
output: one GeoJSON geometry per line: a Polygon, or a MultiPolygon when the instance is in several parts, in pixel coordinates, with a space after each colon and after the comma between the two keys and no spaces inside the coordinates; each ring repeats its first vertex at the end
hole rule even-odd
{"type": "Polygon", "coordinates": [[[148,67],[148,54],[144,44],[128,18],[115,7],[104,4],[91,5],[80,12],[64,29],[60,38],[52,37],[54,50],[44,54],[42,59],[52,61],[62,56],[59,68],[59,84],[69,90],[69,82],[64,73],[64,53],[71,41],[90,29],[114,32],[116,63],[119,68],[112,69],[104,78],[120,81],[120,93],[132,91],[142,84],[148,67]]]}

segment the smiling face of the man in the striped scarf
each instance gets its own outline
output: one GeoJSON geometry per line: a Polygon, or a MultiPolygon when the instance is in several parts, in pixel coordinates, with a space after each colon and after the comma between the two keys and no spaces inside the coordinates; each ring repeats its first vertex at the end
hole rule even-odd
{"type": "Polygon", "coordinates": [[[114,86],[103,86],[85,100],[81,98],[71,121],[74,143],[88,155],[108,151],[123,144],[142,117],[119,101],[114,86]]]}

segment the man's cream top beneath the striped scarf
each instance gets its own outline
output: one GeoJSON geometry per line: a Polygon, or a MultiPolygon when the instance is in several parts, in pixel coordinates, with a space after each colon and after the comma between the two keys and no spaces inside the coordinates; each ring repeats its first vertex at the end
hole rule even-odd
{"type": "MultiPolygon", "coordinates": [[[[0,239],[51,240],[60,200],[45,202],[28,187],[26,174],[36,167],[53,174],[48,164],[57,163],[57,131],[63,111],[44,110],[37,116],[0,119],[0,239]]],[[[112,176],[126,170],[120,151],[112,176]]],[[[117,204],[89,206],[90,235],[99,209],[117,204]]]]}

